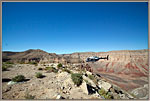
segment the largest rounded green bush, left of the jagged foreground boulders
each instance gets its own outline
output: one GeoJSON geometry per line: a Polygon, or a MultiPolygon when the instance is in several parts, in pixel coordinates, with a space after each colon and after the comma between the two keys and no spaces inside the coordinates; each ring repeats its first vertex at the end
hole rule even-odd
{"type": "Polygon", "coordinates": [[[82,75],[79,73],[71,74],[71,79],[75,85],[80,86],[82,84],[83,78],[82,75]]]}

